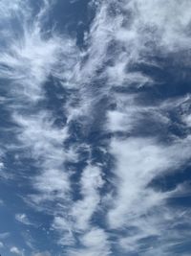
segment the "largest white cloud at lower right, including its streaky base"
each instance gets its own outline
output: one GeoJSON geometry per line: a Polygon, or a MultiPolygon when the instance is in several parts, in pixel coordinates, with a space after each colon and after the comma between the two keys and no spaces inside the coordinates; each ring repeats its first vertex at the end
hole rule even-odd
{"type": "MultiPolygon", "coordinates": [[[[164,146],[154,139],[130,138],[126,141],[114,139],[111,152],[116,158],[115,185],[117,196],[112,199],[108,212],[111,228],[130,228],[127,238],[120,244],[126,251],[138,251],[141,239],[159,236],[166,244],[173,239],[165,233],[165,226],[177,222],[177,213],[171,212],[165,201],[176,191],[158,192],[149,187],[154,177],[178,170],[190,158],[190,138],[164,146]]],[[[180,213],[179,213],[180,214],[180,213]]],[[[182,220],[185,221],[185,220],[182,220]]],[[[182,234],[178,234],[182,239],[182,234]]],[[[166,244],[167,245],[167,244],[166,244]]]]}

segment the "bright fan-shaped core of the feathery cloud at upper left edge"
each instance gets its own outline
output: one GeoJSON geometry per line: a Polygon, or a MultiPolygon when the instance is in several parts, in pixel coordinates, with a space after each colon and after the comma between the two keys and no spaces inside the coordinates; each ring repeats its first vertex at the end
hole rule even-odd
{"type": "Polygon", "coordinates": [[[0,53],[0,75],[13,81],[16,90],[11,91],[13,97],[18,97],[19,103],[26,99],[30,103],[43,96],[42,85],[51,74],[60,76],[59,66],[63,68],[61,72],[66,72],[70,77],[70,65],[73,63],[68,59],[66,64],[61,59],[67,52],[74,52],[74,45],[73,41],[67,38],[63,41],[58,37],[43,39],[40,28],[35,27],[35,24],[32,31],[24,29],[24,35],[21,35],[18,41],[15,40],[6,52],[0,53]],[[63,51],[62,44],[65,44],[66,51],[63,51]]]}

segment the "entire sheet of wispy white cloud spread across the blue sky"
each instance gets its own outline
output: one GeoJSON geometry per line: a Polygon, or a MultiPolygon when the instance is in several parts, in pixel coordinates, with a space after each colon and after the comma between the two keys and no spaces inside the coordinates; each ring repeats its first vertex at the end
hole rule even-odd
{"type": "MultiPolygon", "coordinates": [[[[84,50],[77,49],[75,38],[55,29],[46,31],[47,13],[53,8],[50,1],[40,2],[36,13],[30,3],[24,4],[22,0],[0,3],[0,21],[5,23],[0,33],[4,45],[0,76],[10,100],[3,102],[16,126],[12,144],[32,158],[36,169],[28,178],[34,193],[23,198],[53,217],[51,227],[60,235],[57,244],[69,246],[68,255],[106,256],[114,254],[113,246],[124,253],[169,255],[187,235],[178,232],[175,222],[185,224],[190,219],[187,210],[174,211],[168,199],[178,197],[185,184],[164,192],[151,183],[159,175],[178,171],[190,159],[189,97],[186,104],[184,97],[163,97],[157,103],[142,103],[142,97],[144,88],[165,81],[155,81],[145,72],[162,70],[156,57],[167,59],[189,50],[191,4],[186,0],[92,1],[96,15],[84,50]],[[13,32],[12,13],[19,35],[13,32]],[[52,109],[43,105],[49,100],[45,83],[50,77],[68,93],[62,103],[66,121],[61,127],[52,109]],[[102,123],[96,129],[105,136],[100,144],[112,159],[110,166],[107,157],[102,157],[101,165],[96,163],[95,142],[88,137],[98,123],[101,101],[105,104],[102,123]],[[173,125],[169,112],[175,102],[186,132],[183,137],[170,130],[164,141],[159,135],[161,128],[173,125]],[[80,162],[80,146],[91,153],[85,167],[78,169],[74,164],[80,162]],[[105,211],[104,227],[93,223],[99,210],[105,211]]],[[[15,219],[31,224],[22,213],[15,219]]],[[[14,246],[11,252],[23,255],[14,246]]]]}

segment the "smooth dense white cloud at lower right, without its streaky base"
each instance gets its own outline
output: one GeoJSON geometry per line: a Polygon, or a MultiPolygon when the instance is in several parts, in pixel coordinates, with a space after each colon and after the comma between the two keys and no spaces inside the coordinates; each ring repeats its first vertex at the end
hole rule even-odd
{"type": "Polygon", "coordinates": [[[111,151],[117,160],[115,173],[119,179],[117,205],[110,212],[114,226],[124,225],[128,212],[130,216],[142,215],[147,207],[158,205],[161,199],[166,198],[165,194],[155,194],[147,185],[161,172],[174,171],[189,159],[189,139],[172,146],[162,146],[155,140],[142,138],[112,141],[111,151]]]}

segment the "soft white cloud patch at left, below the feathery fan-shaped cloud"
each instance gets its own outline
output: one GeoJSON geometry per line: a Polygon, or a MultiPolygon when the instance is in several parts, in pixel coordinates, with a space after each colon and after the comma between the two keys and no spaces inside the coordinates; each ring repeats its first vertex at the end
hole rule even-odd
{"type": "Polygon", "coordinates": [[[63,197],[70,188],[63,163],[74,158],[72,151],[63,150],[63,142],[68,137],[67,128],[54,127],[53,117],[47,112],[31,117],[16,115],[14,120],[21,128],[19,140],[23,147],[31,150],[32,157],[42,168],[42,173],[34,178],[33,186],[47,197],[54,191],[57,197],[63,197]]]}

